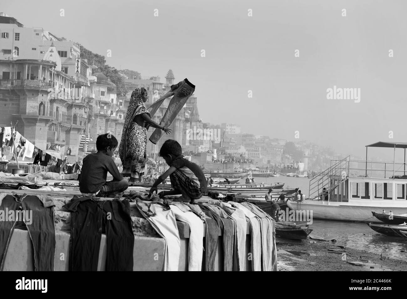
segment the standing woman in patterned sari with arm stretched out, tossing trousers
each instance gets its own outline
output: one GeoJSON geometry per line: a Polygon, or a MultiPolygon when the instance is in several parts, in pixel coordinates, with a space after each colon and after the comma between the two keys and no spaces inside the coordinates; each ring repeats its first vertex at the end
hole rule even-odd
{"type": "Polygon", "coordinates": [[[133,90],[127,109],[119,156],[123,165],[123,174],[130,174],[130,182],[142,181],[147,161],[147,130],[149,127],[163,130],[166,134],[171,129],[160,126],[151,120],[151,114],[144,105],[148,100],[147,90],[139,87],[133,90]]]}

